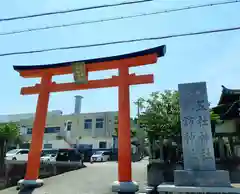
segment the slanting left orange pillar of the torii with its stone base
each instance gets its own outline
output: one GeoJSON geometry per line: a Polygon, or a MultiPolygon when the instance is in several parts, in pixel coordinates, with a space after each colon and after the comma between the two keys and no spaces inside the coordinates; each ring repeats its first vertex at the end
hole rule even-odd
{"type": "Polygon", "coordinates": [[[37,102],[37,110],[32,130],[32,142],[30,151],[28,154],[28,165],[25,177],[18,182],[21,187],[38,187],[43,185],[43,181],[38,179],[42,142],[44,136],[44,128],[46,124],[46,115],[48,111],[48,102],[50,94],[50,86],[52,83],[52,75],[45,74],[41,78],[41,84],[39,85],[39,96],[37,102]]]}

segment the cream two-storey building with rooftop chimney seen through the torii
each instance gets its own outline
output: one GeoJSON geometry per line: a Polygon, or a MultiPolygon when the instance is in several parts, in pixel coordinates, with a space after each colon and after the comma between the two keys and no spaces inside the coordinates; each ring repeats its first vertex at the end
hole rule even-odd
{"type": "MultiPolygon", "coordinates": [[[[74,144],[93,149],[112,148],[117,112],[81,113],[81,96],[76,96],[73,114],[48,114],[44,147],[61,148],[74,144]]],[[[56,111],[55,111],[56,113],[56,111]]],[[[34,117],[20,119],[24,141],[31,141],[34,117]]]]}

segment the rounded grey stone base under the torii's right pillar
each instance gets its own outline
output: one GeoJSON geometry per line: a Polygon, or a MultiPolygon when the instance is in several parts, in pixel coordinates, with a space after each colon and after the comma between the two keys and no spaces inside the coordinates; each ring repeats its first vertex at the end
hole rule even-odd
{"type": "Polygon", "coordinates": [[[139,186],[136,182],[119,182],[115,181],[112,184],[112,192],[114,193],[128,193],[134,194],[139,189],[139,186]]]}

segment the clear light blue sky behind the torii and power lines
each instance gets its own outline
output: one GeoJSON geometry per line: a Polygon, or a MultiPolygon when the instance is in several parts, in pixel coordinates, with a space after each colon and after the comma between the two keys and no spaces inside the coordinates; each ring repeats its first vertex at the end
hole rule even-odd
{"type": "MultiPolygon", "coordinates": [[[[114,2],[122,2],[122,0],[11,0],[1,3],[0,18],[114,2]]],[[[45,25],[131,15],[139,12],[151,12],[199,3],[210,3],[210,1],[155,0],[151,3],[139,5],[1,22],[0,31],[6,32],[45,25]]],[[[0,36],[0,53],[235,27],[240,25],[240,20],[238,19],[240,18],[239,10],[240,3],[237,3],[100,24],[0,36]]],[[[154,73],[155,76],[154,84],[131,87],[131,102],[139,97],[147,97],[153,91],[177,89],[178,83],[206,81],[209,101],[212,105],[215,105],[221,93],[221,85],[225,85],[228,88],[240,88],[240,83],[238,83],[240,72],[240,31],[235,31],[105,47],[0,57],[0,114],[34,112],[36,108],[37,96],[21,96],[20,88],[22,86],[34,85],[38,80],[21,78],[18,73],[13,71],[13,65],[50,64],[104,57],[162,44],[167,46],[167,53],[164,58],[159,59],[157,64],[131,69],[131,72],[137,74],[154,73]]],[[[99,79],[116,74],[116,71],[96,72],[90,74],[90,78],[99,79]]],[[[58,82],[70,82],[72,79],[72,76],[54,78],[58,82]]],[[[74,96],[77,94],[84,97],[82,112],[114,111],[118,108],[117,88],[111,88],[51,94],[49,109],[60,109],[65,114],[72,113],[74,110],[74,96]]],[[[131,115],[134,116],[135,114],[136,107],[131,103],[131,115]]]]}

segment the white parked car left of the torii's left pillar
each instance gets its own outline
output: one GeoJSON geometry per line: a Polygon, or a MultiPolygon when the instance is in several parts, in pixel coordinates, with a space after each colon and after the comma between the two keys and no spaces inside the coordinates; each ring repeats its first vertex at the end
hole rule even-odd
{"type": "Polygon", "coordinates": [[[6,160],[20,160],[27,161],[28,160],[28,149],[14,149],[10,150],[6,153],[6,160]]]}

